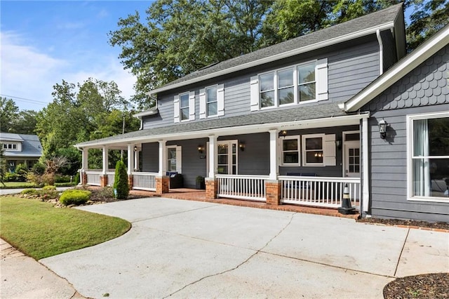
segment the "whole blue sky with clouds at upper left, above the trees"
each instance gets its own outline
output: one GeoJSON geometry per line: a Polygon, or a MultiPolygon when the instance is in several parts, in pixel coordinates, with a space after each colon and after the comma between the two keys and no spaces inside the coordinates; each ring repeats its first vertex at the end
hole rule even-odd
{"type": "Polygon", "coordinates": [[[151,1],[0,2],[0,95],[19,109],[40,110],[53,100],[53,85],[82,83],[89,77],[115,81],[125,98],[135,78],[110,46],[107,33],[119,18],[138,11],[145,18],[151,1]]]}

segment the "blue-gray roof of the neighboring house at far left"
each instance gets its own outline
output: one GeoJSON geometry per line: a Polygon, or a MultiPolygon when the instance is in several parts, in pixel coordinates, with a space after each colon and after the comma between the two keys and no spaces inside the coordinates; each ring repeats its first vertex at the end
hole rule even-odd
{"type": "Polygon", "coordinates": [[[22,142],[22,151],[5,151],[5,157],[34,157],[42,155],[42,145],[37,135],[0,133],[0,143],[3,141],[22,142]]]}

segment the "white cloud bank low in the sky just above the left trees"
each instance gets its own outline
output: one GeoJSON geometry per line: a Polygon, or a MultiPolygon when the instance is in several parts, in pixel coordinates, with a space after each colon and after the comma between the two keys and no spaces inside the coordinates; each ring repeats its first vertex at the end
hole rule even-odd
{"type": "Polygon", "coordinates": [[[41,102],[51,102],[53,85],[60,84],[62,79],[70,83],[82,83],[89,77],[115,81],[124,98],[134,94],[135,77],[123,70],[112,55],[96,53],[93,59],[83,60],[67,54],[68,58],[61,59],[28,46],[27,41],[14,32],[0,32],[0,39],[0,93],[10,95],[20,109],[45,107],[41,102]],[[34,100],[34,103],[19,98],[34,100]]]}

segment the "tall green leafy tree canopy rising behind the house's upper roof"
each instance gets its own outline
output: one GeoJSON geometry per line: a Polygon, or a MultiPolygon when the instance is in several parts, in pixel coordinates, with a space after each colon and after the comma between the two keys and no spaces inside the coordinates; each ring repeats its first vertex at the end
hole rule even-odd
{"type": "MultiPolygon", "coordinates": [[[[109,43],[135,74],[134,100],[154,105],[145,92],[201,67],[255,51],[398,4],[403,0],[159,0],[121,18],[109,43]]],[[[405,0],[412,8],[409,49],[448,24],[449,0],[405,0]]]]}

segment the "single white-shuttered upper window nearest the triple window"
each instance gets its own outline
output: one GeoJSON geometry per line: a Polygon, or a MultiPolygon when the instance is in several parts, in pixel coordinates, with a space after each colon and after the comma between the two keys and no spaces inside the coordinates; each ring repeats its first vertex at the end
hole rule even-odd
{"type": "Polygon", "coordinates": [[[223,84],[208,86],[199,91],[199,118],[225,115],[225,88],[223,84]]]}

